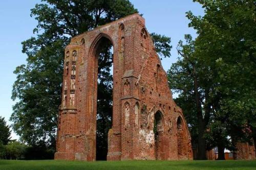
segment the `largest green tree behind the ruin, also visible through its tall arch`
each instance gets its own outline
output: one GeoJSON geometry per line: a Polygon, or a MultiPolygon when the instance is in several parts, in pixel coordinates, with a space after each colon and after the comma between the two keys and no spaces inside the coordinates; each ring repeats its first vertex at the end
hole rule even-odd
{"type": "MultiPolygon", "coordinates": [[[[22,42],[27,64],[14,73],[11,120],[14,131],[30,145],[54,147],[61,101],[63,52],[70,38],[118,18],[137,13],[128,0],[42,0],[31,9],[38,21],[34,37],[22,42]]],[[[156,50],[169,57],[170,38],[154,34],[156,50]]],[[[112,117],[111,44],[99,55],[97,135],[106,136],[112,117]]],[[[103,146],[104,147],[104,146],[103,146]]]]}

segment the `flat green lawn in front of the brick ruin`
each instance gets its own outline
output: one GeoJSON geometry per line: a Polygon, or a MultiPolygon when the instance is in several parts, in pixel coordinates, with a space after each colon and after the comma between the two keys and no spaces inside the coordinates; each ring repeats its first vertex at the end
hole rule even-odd
{"type": "Polygon", "coordinates": [[[0,170],[83,170],[83,169],[256,169],[256,161],[56,161],[0,160],[0,170]]]}

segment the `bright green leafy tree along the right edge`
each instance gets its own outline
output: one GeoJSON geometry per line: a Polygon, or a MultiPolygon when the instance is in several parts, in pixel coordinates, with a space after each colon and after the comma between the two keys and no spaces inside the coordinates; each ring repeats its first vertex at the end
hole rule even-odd
{"type": "MultiPolygon", "coordinates": [[[[206,9],[205,16],[187,16],[199,33],[197,55],[207,57],[215,70],[214,123],[221,122],[222,132],[226,130],[233,140],[247,140],[244,127],[251,122],[247,116],[255,115],[256,106],[255,2],[197,2],[206,9]]],[[[225,141],[226,137],[219,138],[218,143],[225,141]]]]}

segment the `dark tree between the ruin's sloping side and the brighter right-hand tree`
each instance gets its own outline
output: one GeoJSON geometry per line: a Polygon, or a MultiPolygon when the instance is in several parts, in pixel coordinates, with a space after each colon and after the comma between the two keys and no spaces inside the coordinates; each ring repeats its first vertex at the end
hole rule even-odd
{"type": "Polygon", "coordinates": [[[180,57],[168,70],[169,86],[179,93],[175,101],[184,111],[192,143],[198,144],[198,159],[206,159],[204,132],[210,119],[211,80],[206,76],[205,64],[202,65],[195,56],[195,41],[190,35],[185,35],[185,41],[186,44],[179,42],[177,50],[180,57]]]}

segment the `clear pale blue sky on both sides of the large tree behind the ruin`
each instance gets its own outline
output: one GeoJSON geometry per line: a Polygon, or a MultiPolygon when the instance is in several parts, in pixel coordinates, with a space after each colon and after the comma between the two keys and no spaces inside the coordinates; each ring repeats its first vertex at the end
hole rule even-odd
{"type": "MultiPolygon", "coordinates": [[[[167,71],[170,65],[177,61],[176,46],[184,34],[191,34],[194,38],[196,31],[188,28],[189,20],[185,12],[192,11],[195,15],[203,15],[203,9],[193,0],[130,0],[139,13],[143,14],[147,31],[162,34],[172,38],[172,57],[162,60],[162,65],[167,71]]],[[[22,53],[21,42],[33,35],[37,21],[30,17],[30,9],[38,0],[10,0],[2,1],[0,5],[0,116],[5,117],[8,125],[12,123],[9,118],[12,114],[11,100],[12,85],[16,80],[13,71],[18,65],[26,64],[26,55],[22,53]]],[[[12,139],[18,136],[12,131],[12,139]]]]}

